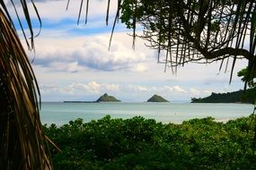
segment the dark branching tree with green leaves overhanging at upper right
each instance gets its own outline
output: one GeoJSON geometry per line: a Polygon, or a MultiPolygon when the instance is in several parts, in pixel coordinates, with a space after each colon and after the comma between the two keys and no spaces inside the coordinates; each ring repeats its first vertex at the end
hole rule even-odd
{"type": "Polygon", "coordinates": [[[232,58],[233,71],[236,59],[246,58],[247,77],[253,79],[255,1],[124,0],[120,10],[128,29],[143,27],[143,34],[134,31],[134,38],[146,39],[147,47],[158,50],[159,61],[167,66],[221,60],[222,67],[232,58]]]}

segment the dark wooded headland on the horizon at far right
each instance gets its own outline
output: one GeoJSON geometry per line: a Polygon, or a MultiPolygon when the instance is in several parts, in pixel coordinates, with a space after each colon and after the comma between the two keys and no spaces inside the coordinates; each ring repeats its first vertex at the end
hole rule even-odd
{"type": "Polygon", "coordinates": [[[227,93],[212,93],[207,98],[191,98],[191,103],[253,103],[255,101],[255,90],[242,89],[227,93]]]}

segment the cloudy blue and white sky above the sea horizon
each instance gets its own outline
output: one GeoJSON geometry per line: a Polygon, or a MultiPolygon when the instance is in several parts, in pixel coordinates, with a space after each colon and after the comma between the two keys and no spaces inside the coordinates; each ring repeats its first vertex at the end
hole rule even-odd
{"type": "MultiPolygon", "coordinates": [[[[35,38],[35,52],[28,50],[28,55],[42,101],[89,101],[108,93],[124,102],[144,102],[154,94],[172,102],[189,102],[190,98],[204,98],[212,92],[243,89],[236,72],[245,67],[246,61],[236,63],[232,83],[229,83],[232,62],[226,72],[219,71],[220,63],[185,64],[175,74],[171,69],[164,72],[164,64],[157,64],[157,52],[146,47],[143,40],[137,38],[135,50],[132,48],[132,38],[128,35],[131,30],[121,23],[116,27],[109,50],[116,0],[111,1],[109,26],[105,23],[106,0],[90,1],[86,25],[85,10],[77,25],[80,0],[70,1],[68,10],[67,0],[35,2],[42,28],[40,36],[35,38]]],[[[39,31],[32,8],[31,18],[34,31],[39,31]]],[[[17,30],[22,38],[21,30],[17,30]]],[[[27,49],[24,38],[22,42],[27,49]]]]}

